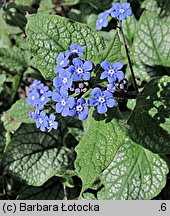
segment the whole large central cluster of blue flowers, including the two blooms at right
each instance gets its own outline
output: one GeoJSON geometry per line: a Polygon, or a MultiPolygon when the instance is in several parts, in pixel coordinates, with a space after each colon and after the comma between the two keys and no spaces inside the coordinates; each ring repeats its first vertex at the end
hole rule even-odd
{"type": "Polygon", "coordinates": [[[103,91],[99,87],[95,87],[91,92],[92,97],[86,101],[83,95],[89,90],[93,63],[80,59],[80,56],[85,54],[85,48],[85,46],[80,47],[78,44],[72,44],[65,53],[59,53],[56,59],[57,67],[56,77],[53,79],[53,91],[38,80],[30,85],[28,104],[35,107],[35,110],[30,112],[30,117],[36,120],[36,126],[41,131],[57,129],[58,122],[55,121],[54,112],[63,117],[77,116],[80,120],[84,120],[89,113],[88,106],[97,107],[97,112],[100,114],[106,113],[108,108],[115,106],[116,101],[113,93],[117,90],[116,83],[120,83],[124,79],[124,73],[121,71],[123,64],[116,62],[110,65],[107,61],[102,62],[101,68],[104,72],[100,79],[107,78],[107,89],[103,91]],[[49,109],[46,110],[52,114],[43,111],[47,107],[49,109]],[[52,108],[52,112],[49,111],[52,108]]]}

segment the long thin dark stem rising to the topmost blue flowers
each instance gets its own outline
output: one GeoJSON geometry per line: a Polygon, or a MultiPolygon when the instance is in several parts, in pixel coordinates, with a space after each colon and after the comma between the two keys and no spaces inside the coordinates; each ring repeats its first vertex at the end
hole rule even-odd
{"type": "Polygon", "coordinates": [[[124,46],[125,46],[126,55],[127,55],[127,58],[128,58],[128,63],[129,63],[130,71],[131,71],[131,74],[132,74],[132,83],[133,83],[133,86],[134,86],[134,89],[135,89],[136,93],[138,93],[138,87],[137,87],[135,74],[134,74],[133,67],[132,67],[132,61],[130,59],[130,54],[129,54],[128,46],[127,46],[127,43],[126,43],[126,37],[125,37],[125,34],[123,32],[122,21],[121,20],[119,21],[119,29],[120,29],[120,32],[122,34],[122,39],[123,39],[123,43],[124,43],[124,46]]]}

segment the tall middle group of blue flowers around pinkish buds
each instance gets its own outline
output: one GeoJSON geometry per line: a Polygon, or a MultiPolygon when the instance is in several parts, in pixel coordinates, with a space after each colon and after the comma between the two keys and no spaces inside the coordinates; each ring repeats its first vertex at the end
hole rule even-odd
{"type": "Polygon", "coordinates": [[[84,87],[88,86],[93,63],[79,58],[84,55],[85,48],[72,44],[69,50],[59,53],[57,57],[55,72],[58,76],[53,79],[55,89],[52,99],[56,102],[56,112],[63,117],[78,116],[80,120],[84,120],[88,116],[86,100],[81,98],[81,92],[87,91],[84,87]],[[74,93],[79,95],[78,99],[70,96],[74,93]]]}

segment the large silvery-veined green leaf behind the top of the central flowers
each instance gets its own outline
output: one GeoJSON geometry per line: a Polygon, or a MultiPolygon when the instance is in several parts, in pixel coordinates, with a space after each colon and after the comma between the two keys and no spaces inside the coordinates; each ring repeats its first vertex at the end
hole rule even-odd
{"type": "Polygon", "coordinates": [[[46,79],[55,76],[56,56],[73,43],[86,45],[85,58],[93,61],[105,48],[104,40],[84,24],[53,15],[28,15],[26,33],[36,66],[46,79]]]}

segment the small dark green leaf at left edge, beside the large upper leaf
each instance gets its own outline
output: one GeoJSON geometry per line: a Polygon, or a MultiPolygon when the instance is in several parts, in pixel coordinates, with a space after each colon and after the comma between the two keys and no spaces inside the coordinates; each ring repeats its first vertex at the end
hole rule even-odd
{"type": "Polygon", "coordinates": [[[0,67],[9,71],[22,72],[27,68],[27,62],[17,47],[0,48],[0,67]]]}

